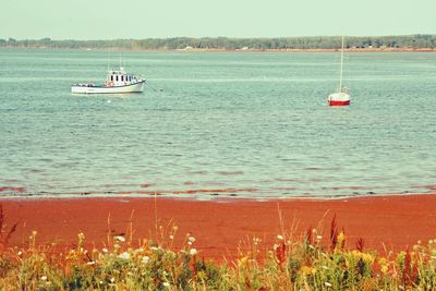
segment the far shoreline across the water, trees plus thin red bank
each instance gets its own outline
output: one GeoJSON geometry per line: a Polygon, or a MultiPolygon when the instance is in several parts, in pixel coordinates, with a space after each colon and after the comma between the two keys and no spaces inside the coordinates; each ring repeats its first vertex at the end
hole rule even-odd
{"type": "MultiPolygon", "coordinates": [[[[342,47],[342,41],[340,36],[168,37],[106,40],[10,37],[0,38],[0,47],[190,52],[334,52],[342,47]]],[[[436,35],[344,36],[343,47],[350,52],[433,52],[436,50],[436,35]]]]}

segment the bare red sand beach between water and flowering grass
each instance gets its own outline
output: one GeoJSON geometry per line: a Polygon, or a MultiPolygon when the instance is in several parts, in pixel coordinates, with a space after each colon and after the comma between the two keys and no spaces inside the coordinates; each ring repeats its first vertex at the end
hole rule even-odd
{"type": "MultiPolygon", "coordinates": [[[[436,193],[435,193],[436,194],[436,193]]],[[[70,245],[84,232],[88,243],[107,241],[108,215],[113,235],[125,233],[133,213],[134,240],[154,238],[157,225],[169,234],[178,226],[175,245],[186,233],[196,239],[195,247],[207,258],[234,257],[249,238],[263,240],[271,248],[277,234],[301,234],[310,227],[323,230],[324,243],[336,215],[344,229],[347,245],[359,238],[365,247],[384,252],[401,251],[419,240],[436,238],[436,195],[390,195],[343,199],[282,199],[255,202],[228,199],[201,202],[172,198],[29,198],[0,199],[7,230],[17,222],[9,245],[26,244],[33,230],[37,242],[70,245]],[[280,209],[280,210],[278,210],[280,209]],[[279,215],[280,214],[280,215],[279,215]],[[280,216],[281,221],[280,223],[280,216]]]]}

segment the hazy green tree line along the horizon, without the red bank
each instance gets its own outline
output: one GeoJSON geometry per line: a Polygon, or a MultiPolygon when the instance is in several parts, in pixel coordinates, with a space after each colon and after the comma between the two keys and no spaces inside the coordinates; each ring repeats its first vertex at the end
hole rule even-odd
{"type": "MultiPolygon", "coordinates": [[[[319,37],[278,37],[278,38],[229,38],[229,37],[174,37],[147,39],[114,39],[114,40],[52,40],[14,38],[0,39],[0,47],[13,48],[60,48],[60,49],[338,49],[341,38],[338,36],[319,37]]],[[[347,48],[436,48],[436,35],[405,36],[365,36],[346,37],[347,48]]]]}

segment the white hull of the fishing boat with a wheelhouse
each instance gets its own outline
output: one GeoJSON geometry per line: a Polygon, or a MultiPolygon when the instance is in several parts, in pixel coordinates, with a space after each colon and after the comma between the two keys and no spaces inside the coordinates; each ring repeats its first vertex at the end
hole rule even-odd
{"type": "Polygon", "coordinates": [[[144,90],[145,80],[129,85],[109,86],[94,84],[75,84],[71,86],[71,93],[76,94],[124,94],[142,93],[144,90]]]}

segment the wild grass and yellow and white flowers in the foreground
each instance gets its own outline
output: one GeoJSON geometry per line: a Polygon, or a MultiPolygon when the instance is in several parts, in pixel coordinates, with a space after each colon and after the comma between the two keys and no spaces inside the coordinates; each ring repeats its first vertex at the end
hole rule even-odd
{"type": "MultiPolygon", "coordinates": [[[[11,229],[12,230],[12,229],[11,229]]],[[[417,243],[398,254],[365,251],[363,240],[346,248],[346,235],[331,221],[329,243],[316,229],[304,235],[278,234],[266,250],[253,238],[232,263],[205,260],[195,238],[173,245],[177,227],[135,247],[125,237],[108,234],[104,247],[57,250],[38,245],[33,232],[26,247],[7,247],[12,231],[2,226],[1,290],[435,290],[436,246],[417,243]],[[5,235],[5,233],[8,233],[5,235]],[[325,241],[325,240],[324,240],[325,241]]]]}

